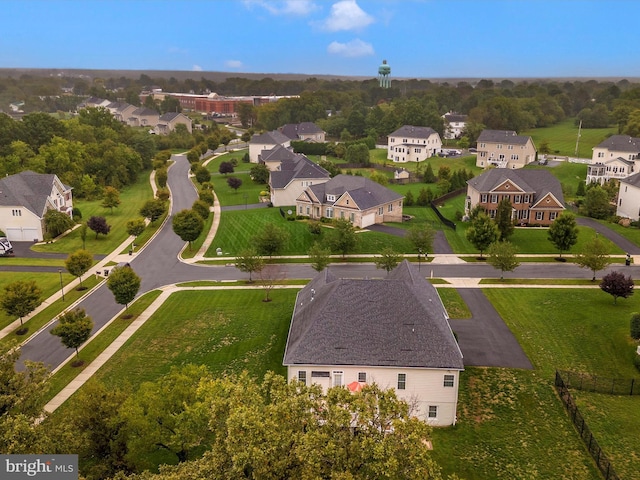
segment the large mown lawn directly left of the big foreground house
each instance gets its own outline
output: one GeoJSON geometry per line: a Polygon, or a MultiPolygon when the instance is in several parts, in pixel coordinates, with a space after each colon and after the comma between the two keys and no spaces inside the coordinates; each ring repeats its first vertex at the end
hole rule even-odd
{"type": "Polygon", "coordinates": [[[214,374],[284,374],[282,357],[298,289],[187,291],[167,302],[136,332],[97,378],[137,385],[173,365],[206,365],[214,374]]]}

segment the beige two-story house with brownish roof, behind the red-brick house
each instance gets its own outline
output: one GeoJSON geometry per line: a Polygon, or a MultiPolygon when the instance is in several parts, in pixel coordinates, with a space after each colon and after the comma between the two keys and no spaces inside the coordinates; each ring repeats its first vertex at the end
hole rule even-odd
{"type": "Polygon", "coordinates": [[[513,130],[483,130],[478,137],[476,167],[522,168],[535,159],[536,147],[529,136],[513,130]]]}

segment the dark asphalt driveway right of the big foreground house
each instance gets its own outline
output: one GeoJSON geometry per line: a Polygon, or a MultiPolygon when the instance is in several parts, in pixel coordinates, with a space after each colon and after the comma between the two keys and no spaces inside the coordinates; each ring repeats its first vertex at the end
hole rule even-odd
{"type": "Polygon", "coordinates": [[[533,369],[516,337],[482,290],[457,290],[472,314],[471,319],[450,320],[465,366],[533,369]]]}

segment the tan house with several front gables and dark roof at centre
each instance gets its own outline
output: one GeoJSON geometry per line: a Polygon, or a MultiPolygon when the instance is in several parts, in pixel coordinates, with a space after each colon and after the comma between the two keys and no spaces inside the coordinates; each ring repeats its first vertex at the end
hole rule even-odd
{"type": "Polygon", "coordinates": [[[296,211],[312,219],[343,218],[365,228],[402,221],[403,196],[365,177],[336,175],[311,185],[296,199],[296,211]]]}

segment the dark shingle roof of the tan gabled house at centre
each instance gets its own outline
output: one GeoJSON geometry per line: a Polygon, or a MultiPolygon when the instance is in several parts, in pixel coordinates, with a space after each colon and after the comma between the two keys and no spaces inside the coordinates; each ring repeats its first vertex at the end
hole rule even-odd
{"type": "Polygon", "coordinates": [[[355,175],[336,175],[326,183],[312,185],[309,188],[317,198],[322,199],[322,203],[329,204],[334,202],[327,202],[327,195],[335,195],[337,199],[348,192],[360,210],[368,210],[403,198],[399,193],[389,190],[373,180],[355,175]]]}

